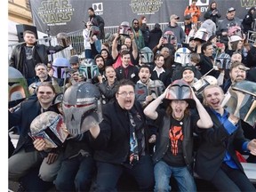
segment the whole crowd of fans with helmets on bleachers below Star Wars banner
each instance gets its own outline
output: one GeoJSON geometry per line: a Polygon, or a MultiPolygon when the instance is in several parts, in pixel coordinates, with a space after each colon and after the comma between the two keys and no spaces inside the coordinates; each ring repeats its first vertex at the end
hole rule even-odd
{"type": "Polygon", "coordinates": [[[9,67],[25,79],[9,75],[9,129],[20,135],[15,148],[9,143],[9,180],[19,181],[20,191],[53,184],[58,191],[116,191],[129,174],[136,190],[170,191],[174,177],[180,191],[196,191],[196,172],[218,191],[255,191],[241,165],[242,155],[256,163],[256,33],[247,36],[255,11],[241,22],[236,8],[220,15],[213,1],[203,16],[192,0],[164,30],[158,23],[150,30],[143,15],[105,38],[104,20],[91,7],[84,60],[51,62],[48,55],[69,44],[36,44],[36,35],[24,31],[9,67]],[[231,100],[234,87],[246,95],[231,100]],[[248,98],[254,108],[243,116],[236,109],[248,98]],[[69,132],[56,148],[31,130],[32,122],[46,126],[56,141],[53,125],[43,124],[50,115],[40,116],[50,111],[69,132]]]}

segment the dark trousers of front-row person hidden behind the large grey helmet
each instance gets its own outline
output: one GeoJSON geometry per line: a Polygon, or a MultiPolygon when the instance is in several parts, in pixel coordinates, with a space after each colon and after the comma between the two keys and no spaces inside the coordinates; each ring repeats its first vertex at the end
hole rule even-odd
{"type": "Polygon", "coordinates": [[[62,162],[55,187],[59,191],[89,191],[95,164],[92,156],[76,156],[62,162]]]}

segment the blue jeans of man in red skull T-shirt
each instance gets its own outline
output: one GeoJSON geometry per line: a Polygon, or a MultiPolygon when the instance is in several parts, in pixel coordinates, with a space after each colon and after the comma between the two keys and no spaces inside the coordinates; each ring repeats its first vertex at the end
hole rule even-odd
{"type": "Polygon", "coordinates": [[[174,167],[164,161],[155,164],[154,174],[156,185],[154,191],[171,191],[170,179],[173,176],[177,181],[180,191],[196,191],[196,184],[187,166],[174,167]]]}

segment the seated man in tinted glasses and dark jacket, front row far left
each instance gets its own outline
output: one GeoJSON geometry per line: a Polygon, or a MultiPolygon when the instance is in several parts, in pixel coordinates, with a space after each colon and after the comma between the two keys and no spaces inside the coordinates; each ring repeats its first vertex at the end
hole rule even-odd
{"type": "MultiPolygon", "coordinates": [[[[55,171],[48,164],[49,162],[51,162],[50,164],[52,164],[54,161],[52,161],[51,159],[47,159],[48,157],[44,160],[44,154],[34,148],[33,140],[28,136],[28,133],[30,132],[30,124],[36,118],[36,116],[39,116],[45,111],[54,111],[58,113],[56,109],[52,108],[52,100],[55,97],[54,87],[49,82],[43,82],[37,87],[36,96],[37,100],[27,100],[21,102],[20,108],[18,110],[12,113],[9,112],[9,128],[12,128],[12,126],[20,127],[20,138],[18,140],[17,147],[15,148],[12,156],[8,159],[9,180],[23,180],[23,178],[26,178],[26,176],[33,172],[36,167],[38,168],[38,166],[41,166],[40,170],[43,172],[55,171]],[[46,171],[46,169],[48,171],[46,171]]],[[[41,175],[41,172],[38,173],[39,175],[41,175]]],[[[43,175],[41,176],[44,177],[43,175]]],[[[39,177],[34,179],[39,180],[39,177]]],[[[31,182],[31,180],[29,182],[31,182]]],[[[39,182],[35,181],[35,183],[38,185],[38,183],[44,182],[43,180],[41,180],[39,182]]],[[[29,186],[31,187],[33,185],[33,182],[31,182],[30,184],[29,186]]],[[[34,186],[33,189],[27,189],[38,191],[43,190],[43,188],[41,188],[43,186],[45,188],[45,183],[42,185],[39,184],[38,186],[34,186]]]]}

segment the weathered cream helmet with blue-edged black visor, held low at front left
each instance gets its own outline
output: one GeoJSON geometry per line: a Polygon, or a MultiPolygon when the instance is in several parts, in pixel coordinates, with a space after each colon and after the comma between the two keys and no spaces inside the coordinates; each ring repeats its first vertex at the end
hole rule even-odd
{"type": "Polygon", "coordinates": [[[32,138],[44,139],[46,148],[60,147],[68,137],[63,117],[53,111],[46,111],[36,116],[30,124],[30,132],[32,138]]]}

